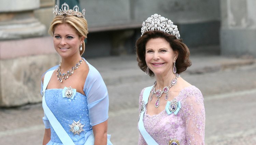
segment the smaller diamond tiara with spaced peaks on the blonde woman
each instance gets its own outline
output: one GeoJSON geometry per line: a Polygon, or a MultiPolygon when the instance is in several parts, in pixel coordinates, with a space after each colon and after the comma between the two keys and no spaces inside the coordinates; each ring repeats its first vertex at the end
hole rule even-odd
{"type": "Polygon", "coordinates": [[[58,15],[74,15],[77,17],[83,17],[85,16],[85,9],[81,12],[79,12],[79,7],[75,5],[73,7],[73,10],[69,9],[69,5],[65,2],[61,5],[61,10],[57,5],[55,5],[55,9],[53,9],[53,14],[55,16],[58,15]]]}

